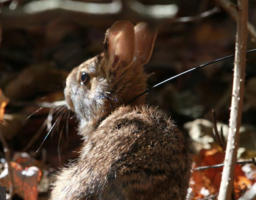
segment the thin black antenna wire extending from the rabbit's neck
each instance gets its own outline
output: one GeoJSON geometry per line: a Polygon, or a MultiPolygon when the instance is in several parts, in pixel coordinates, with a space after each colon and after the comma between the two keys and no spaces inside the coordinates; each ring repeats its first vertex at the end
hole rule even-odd
{"type": "MultiPolygon", "coordinates": [[[[248,51],[246,51],[246,53],[251,53],[251,52],[254,52],[254,51],[256,51],[256,49],[248,50],[248,51]]],[[[200,65],[199,67],[194,67],[194,68],[191,68],[191,69],[189,69],[189,70],[187,70],[187,71],[185,71],[185,72],[182,72],[182,73],[180,73],[180,74],[177,74],[177,75],[175,75],[175,76],[172,76],[172,77],[170,77],[170,78],[168,78],[168,79],[166,79],[166,80],[164,80],[164,81],[162,81],[162,82],[160,82],[160,83],[157,83],[156,85],[152,86],[151,88],[146,89],[144,92],[142,92],[141,94],[139,94],[139,95],[137,95],[136,97],[134,97],[132,100],[130,100],[130,101],[129,101],[128,103],[126,103],[125,105],[128,105],[128,104],[132,103],[133,101],[135,101],[136,99],[138,99],[138,98],[141,97],[142,95],[148,93],[150,90],[152,90],[152,89],[154,89],[154,88],[157,88],[157,87],[159,87],[160,85],[163,85],[163,84],[169,82],[169,81],[172,80],[172,79],[176,79],[177,77],[179,77],[179,76],[181,76],[181,75],[183,75],[183,74],[187,74],[188,72],[197,70],[197,69],[202,68],[202,67],[205,67],[205,66],[207,66],[207,65],[211,65],[211,64],[213,64],[213,63],[217,63],[217,62],[219,62],[219,61],[222,61],[222,60],[225,60],[225,59],[228,59],[228,58],[232,58],[232,57],[234,57],[234,56],[235,56],[235,54],[230,55],[230,56],[226,56],[226,57],[223,57],[223,58],[219,58],[219,59],[216,59],[216,60],[214,60],[214,61],[211,61],[211,62],[205,63],[205,64],[203,64],[203,65],[200,65]]]]}

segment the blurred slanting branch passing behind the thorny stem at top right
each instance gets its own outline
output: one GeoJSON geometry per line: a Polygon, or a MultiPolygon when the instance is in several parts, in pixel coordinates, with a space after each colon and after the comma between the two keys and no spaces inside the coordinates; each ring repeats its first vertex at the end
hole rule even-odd
{"type": "MultiPolygon", "coordinates": [[[[221,5],[221,7],[227,12],[229,13],[229,15],[231,16],[231,18],[237,22],[237,18],[238,18],[238,12],[237,10],[234,8],[234,5],[230,0],[216,0],[217,2],[219,2],[219,4],[221,5]]],[[[254,27],[254,25],[252,25],[251,22],[247,23],[247,29],[248,29],[248,33],[252,36],[252,38],[254,38],[254,41],[256,40],[256,29],[254,27]]]]}

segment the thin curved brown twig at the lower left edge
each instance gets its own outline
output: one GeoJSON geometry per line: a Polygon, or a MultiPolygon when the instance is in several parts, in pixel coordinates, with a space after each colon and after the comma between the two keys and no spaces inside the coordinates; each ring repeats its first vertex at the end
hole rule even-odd
{"type": "Polygon", "coordinates": [[[13,169],[11,166],[11,153],[10,153],[10,149],[8,147],[7,142],[5,141],[4,135],[2,134],[2,131],[0,130],[0,141],[2,143],[2,146],[4,148],[4,154],[5,154],[5,159],[7,162],[7,166],[8,166],[8,174],[9,174],[9,179],[10,179],[10,189],[9,189],[9,195],[10,198],[9,200],[12,200],[13,195],[14,195],[14,178],[13,178],[13,169]]]}

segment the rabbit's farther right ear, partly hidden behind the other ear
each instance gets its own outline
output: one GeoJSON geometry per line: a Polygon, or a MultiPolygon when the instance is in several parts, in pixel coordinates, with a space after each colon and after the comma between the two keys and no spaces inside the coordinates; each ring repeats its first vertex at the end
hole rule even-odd
{"type": "Polygon", "coordinates": [[[134,31],[136,60],[145,65],[151,57],[157,31],[150,29],[149,25],[144,22],[138,23],[134,31]]]}

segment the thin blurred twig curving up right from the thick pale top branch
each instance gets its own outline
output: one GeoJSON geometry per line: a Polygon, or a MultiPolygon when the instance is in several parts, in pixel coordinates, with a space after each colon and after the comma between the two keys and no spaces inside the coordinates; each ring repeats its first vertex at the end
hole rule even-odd
{"type": "Polygon", "coordinates": [[[173,18],[173,22],[176,22],[176,23],[187,23],[187,22],[196,22],[196,21],[199,21],[203,18],[207,18],[209,16],[212,16],[216,13],[219,13],[219,8],[218,7],[214,7],[208,11],[205,11],[203,13],[200,13],[196,16],[187,16],[187,17],[178,17],[178,18],[173,18]]]}

